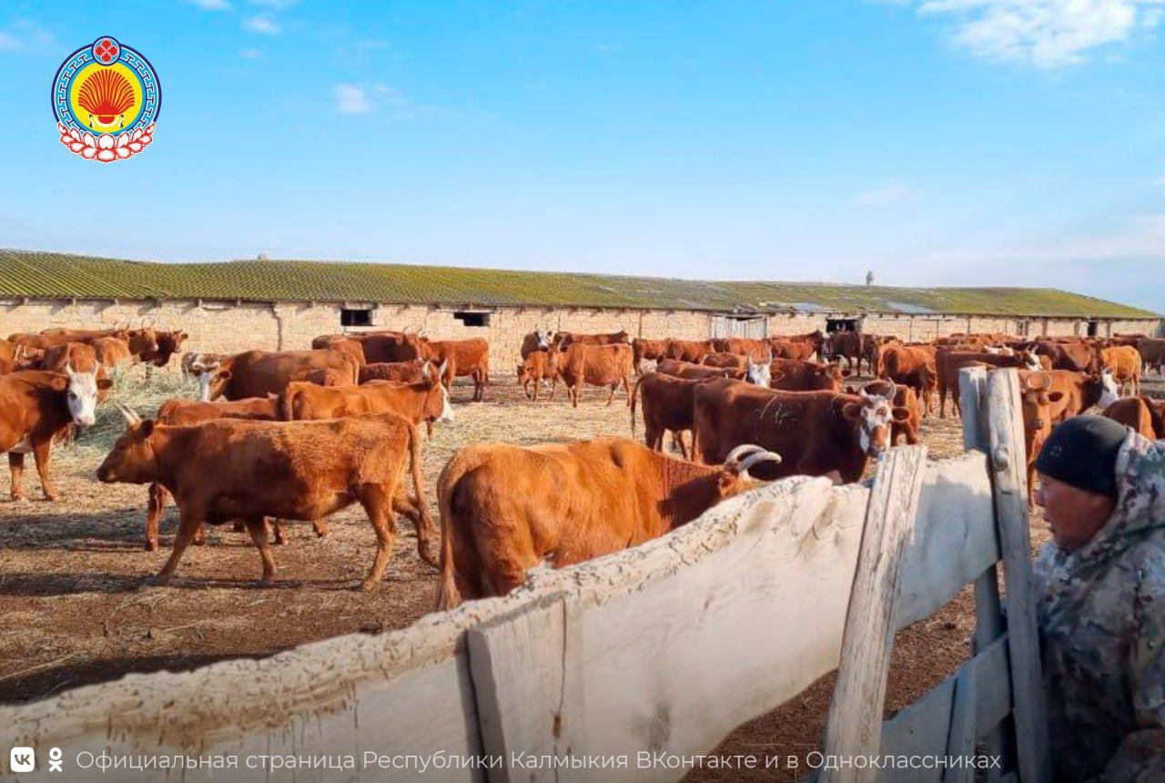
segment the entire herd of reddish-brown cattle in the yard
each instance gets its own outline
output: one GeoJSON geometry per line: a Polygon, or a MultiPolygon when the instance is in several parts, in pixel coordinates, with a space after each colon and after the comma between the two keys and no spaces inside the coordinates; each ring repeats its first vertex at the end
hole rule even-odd
{"type": "MultiPolygon", "coordinates": [[[[164,367],[185,339],[142,327],[0,340],[0,451],[8,453],[13,500],[28,452],[44,496],[56,499],[52,445],[72,426],[94,423],[110,372],[129,361],[164,367]]],[[[600,438],[463,447],[437,480],[438,531],[417,428],[424,423],[431,436],[435,423],[453,419],[456,378],[471,378],[473,400],[483,398],[489,346],[360,332],[318,337],[308,351],[186,351],[181,366],[197,379],[199,398],[167,401],[153,419],[113,401],[126,431],[97,478],[148,485],[148,550],[157,549],[158,520],[174,499],[179,525],[160,583],[188,545],[202,543],[204,524],[224,522],[247,529],[269,580],[269,521],[275,543],[283,542],[283,520],[311,521],[324,536],[326,516],[359,503],[376,535],[361,586],[379,584],[403,515],[421,558],[442,572],[438,602],[447,608],[503,594],[539,563],[564,566],[659,536],[754,480],[855,481],[891,444],[918,443],[922,418],[946,416],[947,396],[958,414],[959,373],[969,366],[1018,368],[1029,466],[1055,423],[1093,405],[1165,438],[1165,403],[1139,395],[1142,374],[1163,371],[1165,340],[1139,334],[903,343],[860,332],[645,340],[539,330],[521,354],[518,383],[535,401],[543,385],[552,400],[562,381],[574,407],[585,386],[609,387],[609,405],[622,387],[633,435],[641,415],[645,445],[600,438]],[[647,362],[655,362],[651,372],[647,362]],[[863,364],[874,380],[847,385],[863,364]],[[682,459],[664,453],[669,431],[682,459]]]]}

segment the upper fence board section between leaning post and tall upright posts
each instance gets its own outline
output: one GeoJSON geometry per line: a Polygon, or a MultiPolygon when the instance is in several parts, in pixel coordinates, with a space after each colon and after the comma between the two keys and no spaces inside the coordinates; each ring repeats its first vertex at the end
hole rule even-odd
{"type": "Polygon", "coordinates": [[[986,454],[927,463],[904,557],[898,628],[934,614],[1000,558],[986,454]]]}

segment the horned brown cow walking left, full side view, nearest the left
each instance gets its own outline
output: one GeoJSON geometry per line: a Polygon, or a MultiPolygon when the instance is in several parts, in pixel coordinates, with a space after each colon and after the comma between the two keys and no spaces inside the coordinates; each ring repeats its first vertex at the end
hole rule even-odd
{"type": "MultiPolygon", "coordinates": [[[[348,357],[351,359],[351,357],[348,357]]],[[[395,414],[324,422],[243,422],[219,418],[192,426],[141,421],[121,405],[126,432],[97,470],[103,482],[158,482],[178,503],[174,551],[157,576],[167,584],[204,523],[246,520],[263,562],[263,581],[275,576],[263,519],[318,520],[359,502],[376,534],[376,556],[361,583],[380,583],[393,551],[391,517],[401,473],[411,461],[419,505],[417,549],[432,563],[432,521],[421,475],[421,437],[395,414]]]]}

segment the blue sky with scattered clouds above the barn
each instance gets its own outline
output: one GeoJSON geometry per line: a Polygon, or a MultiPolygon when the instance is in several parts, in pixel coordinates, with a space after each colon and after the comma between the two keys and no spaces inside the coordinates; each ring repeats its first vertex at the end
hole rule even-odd
{"type": "Polygon", "coordinates": [[[1165,310],[1160,0],[0,6],[0,246],[1054,285],[1165,310]],[[59,144],[98,35],[162,82],[59,144]]]}

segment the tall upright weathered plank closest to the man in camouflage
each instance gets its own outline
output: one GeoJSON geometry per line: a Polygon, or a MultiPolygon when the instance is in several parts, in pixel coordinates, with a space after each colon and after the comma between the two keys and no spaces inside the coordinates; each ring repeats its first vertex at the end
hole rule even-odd
{"type": "Polygon", "coordinates": [[[1008,592],[1018,771],[1025,783],[1050,781],[1052,767],[1032,592],[1019,376],[1014,369],[997,369],[989,373],[987,387],[995,519],[1008,592]]]}

